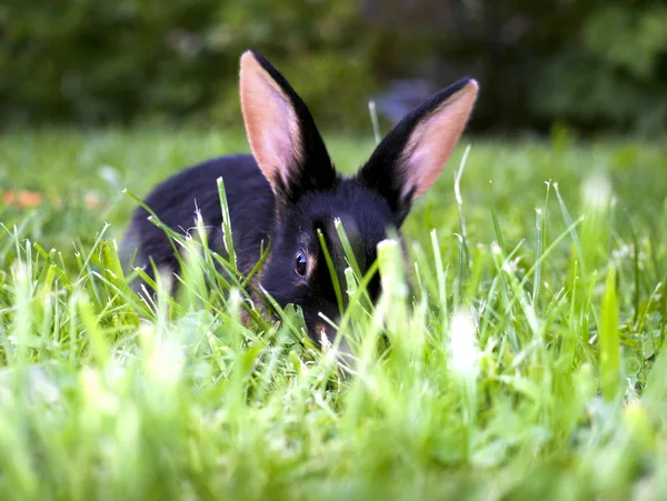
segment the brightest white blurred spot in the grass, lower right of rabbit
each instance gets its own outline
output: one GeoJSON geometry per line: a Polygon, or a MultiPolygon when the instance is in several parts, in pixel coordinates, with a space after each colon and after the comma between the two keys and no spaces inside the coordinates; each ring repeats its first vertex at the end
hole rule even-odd
{"type": "Polygon", "coordinates": [[[449,333],[451,370],[464,379],[475,379],[479,372],[475,321],[469,309],[458,309],[451,319],[449,333]]]}

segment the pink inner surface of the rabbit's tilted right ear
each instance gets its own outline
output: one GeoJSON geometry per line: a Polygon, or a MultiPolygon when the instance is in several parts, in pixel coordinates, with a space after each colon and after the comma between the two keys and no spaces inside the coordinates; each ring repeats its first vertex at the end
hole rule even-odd
{"type": "Polygon", "coordinates": [[[477,82],[470,81],[415,128],[404,152],[402,197],[412,191],[414,201],[438,179],[470,117],[477,91],[477,82]]]}

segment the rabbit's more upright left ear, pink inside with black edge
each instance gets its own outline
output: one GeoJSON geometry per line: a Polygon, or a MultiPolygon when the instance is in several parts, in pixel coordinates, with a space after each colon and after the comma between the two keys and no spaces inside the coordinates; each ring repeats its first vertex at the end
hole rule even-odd
{"type": "Polygon", "coordinates": [[[241,57],[241,110],[252,154],[279,203],[325,189],[336,171],[308,108],[258,52],[241,57]]]}

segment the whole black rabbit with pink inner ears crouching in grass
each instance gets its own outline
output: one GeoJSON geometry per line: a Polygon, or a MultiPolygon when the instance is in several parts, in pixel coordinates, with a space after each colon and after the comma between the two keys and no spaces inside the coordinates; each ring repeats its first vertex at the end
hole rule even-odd
{"type": "MultiPolygon", "coordinates": [[[[339,307],[318,230],[342,277],[347,264],[334,226],[340,219],[366,271],[387,229],[400,228],[412,202],[444,169],[472,110],[477,82],[462,79],[432,96],[387,134],[356,176],[342,177],[308,108],[282,74],[251,51],[242,54],[240,67],[241,108],[252,156],[221,157],[189,168],[158,186],[146,204],[180,232],[193,227],[198,210],[211,229],[210,247],[226,255],[217,187],[222,178],[239,269],[249,272],[270,241],[259,274],[261,289],[281,307],[300,305],[316,342],[332,341],[335,330],[319,313],[336,320],[339,307]]],[[[136,254],[133,264],[149,275],[150,260],[158,269],[177,273],[178,261],[166,234],[147,218],[145,209],[136,211],[121,255],[136,254]]],[[[377,299],[377,274],[368,291],[377,299]]]]}

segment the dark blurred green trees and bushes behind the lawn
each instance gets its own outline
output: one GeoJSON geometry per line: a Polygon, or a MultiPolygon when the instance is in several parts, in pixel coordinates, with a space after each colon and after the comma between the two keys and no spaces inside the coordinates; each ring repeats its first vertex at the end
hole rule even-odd
{"type": "Polygon", "coordinates": [[[667,0],[6,0],[2,126],[239,124],[263,52],[322,128],[369,130],[470,74],[481,132],[661,133],[667,0]]]}

